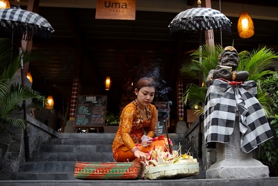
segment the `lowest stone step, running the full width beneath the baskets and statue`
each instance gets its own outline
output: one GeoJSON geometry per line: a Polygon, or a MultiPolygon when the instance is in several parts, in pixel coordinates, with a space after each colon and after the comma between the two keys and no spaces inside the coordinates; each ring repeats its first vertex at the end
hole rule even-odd
{"type": "Polygon", "coordinates": [[[183,179],[168,180],[3,180],[0,181],[3,186],[272,186],[278,185],[278,178],[231,178],[231,179],[192,179],[191,177],[183,179]]]}

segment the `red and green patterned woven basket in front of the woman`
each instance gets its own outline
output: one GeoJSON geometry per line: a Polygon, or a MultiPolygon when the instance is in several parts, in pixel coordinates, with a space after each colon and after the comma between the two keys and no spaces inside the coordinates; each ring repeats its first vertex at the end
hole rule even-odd
{"type": "Polygon", "coordinates": [[[74,178],[82,180],[133,180],[142,174],[139,162],[76,162],[74,178]]]}

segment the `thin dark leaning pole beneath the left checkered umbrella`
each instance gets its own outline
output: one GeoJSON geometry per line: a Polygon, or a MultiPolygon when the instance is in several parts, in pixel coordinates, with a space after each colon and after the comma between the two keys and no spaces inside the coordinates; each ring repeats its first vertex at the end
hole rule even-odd
{"type": "MultiPolygon", "coordinates": [[[[22,87],[25,86],[24,84],[24,65],[23,65],[23,59],[22,59],[22,47],[19,47],[19,56],[20,56],[20,71],[22,76],[22,87]]],[[[22,108],[23,108],[23,119],[25,123],[25,129],[24,129],[24,146],[25,146],[25,160],[29,160],[29,136],[28,136],[28,127],[26,123],[26,100],[22,101],[22,108]]]]}

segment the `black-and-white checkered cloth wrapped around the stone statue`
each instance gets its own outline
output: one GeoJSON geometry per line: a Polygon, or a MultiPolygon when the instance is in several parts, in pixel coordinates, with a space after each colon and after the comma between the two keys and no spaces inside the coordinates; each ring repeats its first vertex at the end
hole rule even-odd
{"type": "Polygon", "coordinates": [[[261,104],[256,99],[256,82],[231,85],[213,79],[206,93],[204,137],[206,143],[229,143],[234,132],[236,111],[239,111],[240,148],[250,153],[270,139],[272,131],[261,104]]]}

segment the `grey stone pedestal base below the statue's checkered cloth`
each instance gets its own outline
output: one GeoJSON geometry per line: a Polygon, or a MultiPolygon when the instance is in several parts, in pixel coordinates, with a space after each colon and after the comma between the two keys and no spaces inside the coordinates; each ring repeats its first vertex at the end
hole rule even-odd
{"type": "MultiPolygon", "coordinates": [[[[238,115],[236,116],[238,118],[238,115]]],[[[268,166],[240,149],[239,123],[236,119],[229,144],[217,143],[217,162],[206,171],[206,178],[263,178],[269,177],[268,166]]]]}

